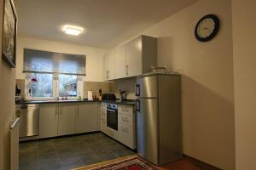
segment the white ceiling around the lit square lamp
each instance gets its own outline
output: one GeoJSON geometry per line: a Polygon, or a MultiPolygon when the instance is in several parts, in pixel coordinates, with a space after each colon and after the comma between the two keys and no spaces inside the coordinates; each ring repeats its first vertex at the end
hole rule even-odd
{"type": "Polygon", "coordinates": [[[111,48],[197,0],[18,0],[19,35],[111,48]],[[82,26],[79,37],[61,26],[82,26]]]}

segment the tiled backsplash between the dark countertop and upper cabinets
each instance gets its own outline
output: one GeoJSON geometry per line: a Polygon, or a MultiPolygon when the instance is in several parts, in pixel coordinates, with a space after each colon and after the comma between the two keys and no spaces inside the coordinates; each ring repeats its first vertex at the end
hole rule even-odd
{"type": "MultiPolygon", "coordinates": [[[[25,95],[25,80],[16,79],[18,87],[21,89],[21,99],[24,99],[25,95]]],[[[114,82],[84,82],[84,98],[88,98],[88,91],[93,91],[96,97],[99,96],[99,89],[102,88],[103,94],[115,94],[116,98],[119,98],[117,89],[122,89],[126,91],[127,99],[136,99],[135,98],[135,84],[136,79],[122,79],[116,80],[114,82]]]]}

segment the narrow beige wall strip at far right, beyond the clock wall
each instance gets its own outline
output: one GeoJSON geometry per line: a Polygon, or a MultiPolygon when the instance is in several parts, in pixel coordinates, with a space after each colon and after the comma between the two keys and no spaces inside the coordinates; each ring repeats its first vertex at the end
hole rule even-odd
{"type": "Polygon", "coordinates": [[[232,0],[236,169],[256,169],[256,1],[232,0]]]}

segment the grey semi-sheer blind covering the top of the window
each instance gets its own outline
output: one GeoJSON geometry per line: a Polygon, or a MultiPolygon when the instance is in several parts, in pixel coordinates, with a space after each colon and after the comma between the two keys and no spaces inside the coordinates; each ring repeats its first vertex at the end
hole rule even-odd
{"type": "Polygon", "coordinates": [[[61,54],[24,48],[23,72],[85,76],[85,55],[61,54]]]}

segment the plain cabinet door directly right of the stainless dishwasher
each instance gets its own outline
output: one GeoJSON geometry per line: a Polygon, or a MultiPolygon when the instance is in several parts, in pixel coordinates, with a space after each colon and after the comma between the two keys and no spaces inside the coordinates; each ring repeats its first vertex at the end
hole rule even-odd
{"type": "Polygon", "coordinates": [[[43,104],[39,109],[39,138],[58,135],[59,111],[57,104],[43,104]]]}

